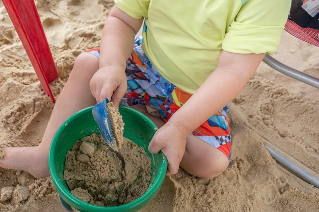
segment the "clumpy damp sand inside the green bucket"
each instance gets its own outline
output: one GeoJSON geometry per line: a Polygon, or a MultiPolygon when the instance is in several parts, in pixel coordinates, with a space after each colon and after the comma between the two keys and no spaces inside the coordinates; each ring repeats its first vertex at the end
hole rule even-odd
{"type": "Polygon", "coordinates": [[[150,158],[127,138],[115,152],[99,134],[92,134],[77,141],[66,156],[64,178],[71,193],[94,205],[137,199],[147,190],[150,176],[150,158]]]}

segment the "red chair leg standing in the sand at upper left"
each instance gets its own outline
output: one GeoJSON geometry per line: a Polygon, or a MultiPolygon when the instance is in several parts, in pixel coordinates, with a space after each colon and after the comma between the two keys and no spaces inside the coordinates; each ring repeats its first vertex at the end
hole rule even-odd
{"type": "Polygon", "coordinates": [[[49,83],[59,77],[33,0],[3,0],[44,92],[55,103],[49,83]]]}

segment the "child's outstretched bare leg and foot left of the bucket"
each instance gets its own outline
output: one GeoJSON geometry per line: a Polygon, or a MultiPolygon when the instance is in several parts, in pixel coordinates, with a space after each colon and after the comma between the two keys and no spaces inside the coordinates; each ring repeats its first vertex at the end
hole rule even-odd
{"type": "Polygon", "coordinates": [[[97,70],[96,56],[90,53],[79,55],[55,104],[41,143],[30,147],[5,147],[6,160],[0,161],[0,167],[27,171],[36,178],[49,176],[48,152],[51,140],[70,115],[96,103],[89,82],[97,70]]]}

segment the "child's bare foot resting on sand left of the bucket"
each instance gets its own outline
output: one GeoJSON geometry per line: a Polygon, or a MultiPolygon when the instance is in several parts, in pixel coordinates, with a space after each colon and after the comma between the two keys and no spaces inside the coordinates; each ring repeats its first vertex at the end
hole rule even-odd
{"type": "Polygon", "coordinates": [[[50,175],[48,149],[39,146],[5,147],[6,159],[0,160],[0,167],[29,172],[36,178],[50,175]]]}

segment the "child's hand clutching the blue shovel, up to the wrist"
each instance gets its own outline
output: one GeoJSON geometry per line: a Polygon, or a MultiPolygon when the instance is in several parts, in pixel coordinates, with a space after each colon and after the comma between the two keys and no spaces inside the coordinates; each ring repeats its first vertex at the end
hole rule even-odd
{"type": "Polygon", "coordinates": [[[127,89],[125,70],[121,66],[100,68],[91,78],[90,88],[96,102],[108,98],[118,108],[127,89]]]}

